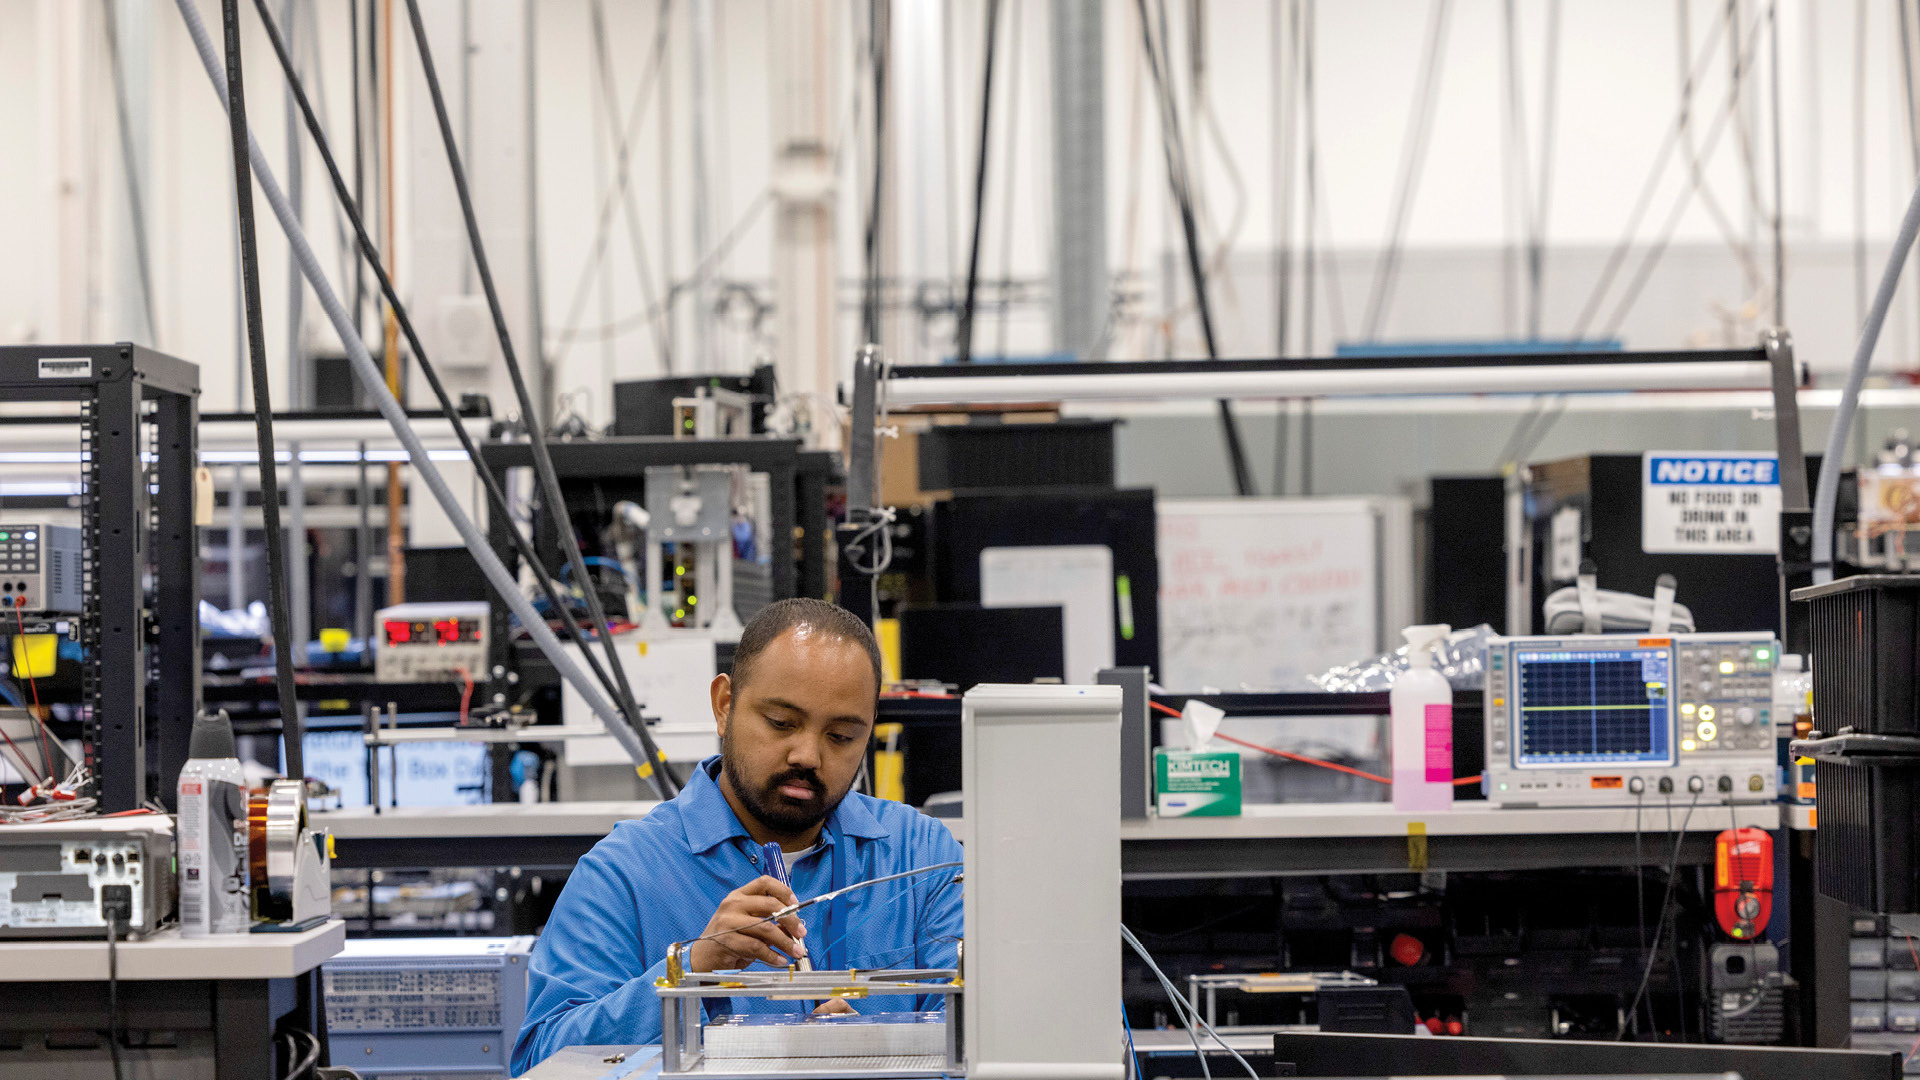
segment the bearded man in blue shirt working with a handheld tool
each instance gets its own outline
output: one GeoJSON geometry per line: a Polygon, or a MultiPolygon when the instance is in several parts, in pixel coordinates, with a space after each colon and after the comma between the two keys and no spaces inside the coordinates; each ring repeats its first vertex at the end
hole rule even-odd
{"type": "MultiPolygon", "coordinates": [[[[879,646],[820,600],[764,607],[733,675],[714,676],[720,755],[641,821],[624,821],[574,867],[534,947],[520,1074],[566,1045],[660,1042],[655,978],[666,947],[691,970],[954,967],[958,867],[854,890],[778,922],[781,907],[902,871],[958,863],[960,844],[920,811],[852,790],[879,703],[879,646]],[[778,842],[793,888],[768,876],[778,842]]],[[[826,1011],[935,1009],[941,997],[829,1001],[826,1011]]],[[[733,999],[739,1013],[803,1001],[733,999]]],[[[707,1001],[714,1011],[714,999],[707,1001]]],[[[726,1009],[720,1009],[726,1011],[726,1009]]]]}

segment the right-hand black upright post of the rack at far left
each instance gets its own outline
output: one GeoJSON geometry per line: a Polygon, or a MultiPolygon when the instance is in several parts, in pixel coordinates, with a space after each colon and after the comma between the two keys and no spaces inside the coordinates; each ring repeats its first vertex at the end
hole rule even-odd
{"type": "Polygon", "coordinates": [[[173,809],[175,780],[200,711],[200,536],[194,525],[194,467],[200,461],[200,404],[192,394],[159,396],[159,528],[154,552],[154,623],[159,678],[154,680],[156,780],[173,809]]]}

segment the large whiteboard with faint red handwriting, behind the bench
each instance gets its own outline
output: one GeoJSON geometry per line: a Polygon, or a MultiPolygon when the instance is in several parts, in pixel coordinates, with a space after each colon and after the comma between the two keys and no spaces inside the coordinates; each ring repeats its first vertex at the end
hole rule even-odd
{"type": "Polygon", "coordinates": [[[1300,688],[1413,621],[1404,498],[1160,500],[1160,682],[1300,688]]]}

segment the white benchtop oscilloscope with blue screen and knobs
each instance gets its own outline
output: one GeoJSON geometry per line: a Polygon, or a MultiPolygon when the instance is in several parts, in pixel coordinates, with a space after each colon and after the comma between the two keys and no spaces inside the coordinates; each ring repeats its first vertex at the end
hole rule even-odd
{"type": "Polygon", "coordinates": [[[1772,801],[1778,659],[1772,634],[1494,638],[1486,798],[1772,801]]]}

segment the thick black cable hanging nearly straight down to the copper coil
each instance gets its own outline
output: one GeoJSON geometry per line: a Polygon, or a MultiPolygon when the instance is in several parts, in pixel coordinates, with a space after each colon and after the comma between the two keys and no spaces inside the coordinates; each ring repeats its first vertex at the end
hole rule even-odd
{"type": "Polygon", "coordinates": [[[280,536],[280,480],[275,461],[273,392],[267,375],[265,319],[259,302],[259,240],[253,234],[253,171],[248,161],[246,83],[240,75],[240,0],[221,0],[227,35],[227,135],[234,158],[234,202],[240,229],[240,281],[246,302],[248,367],[253,375],[253,434],[259,452],[259,511],[267,530],[267,611],[273,626],[273,682],[280,701],[286,774],[305,776],[305,719],[294,696],[294,634],[288,619],[286,546],[280,536]]]}

